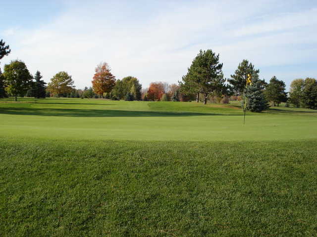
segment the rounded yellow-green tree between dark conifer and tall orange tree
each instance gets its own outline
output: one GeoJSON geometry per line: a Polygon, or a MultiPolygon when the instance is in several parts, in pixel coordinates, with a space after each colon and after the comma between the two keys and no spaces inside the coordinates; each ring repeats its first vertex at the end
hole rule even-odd
{"type": "Polygon", "coordinates": [[[59,72],[51,79],[48,90],[51,95],[56,95],[59,98],[61,94],[71,93],[74,88],[73,84],[74,81],[70,75],[66,72],[59,72]]]}

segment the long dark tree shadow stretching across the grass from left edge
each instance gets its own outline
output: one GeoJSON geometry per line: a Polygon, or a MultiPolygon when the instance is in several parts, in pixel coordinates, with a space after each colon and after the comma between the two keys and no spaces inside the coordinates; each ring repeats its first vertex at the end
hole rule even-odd
{"type": "MultiPolygon", "coordinates": [[[[37,109],[37,108],[0,108],[0,114],[38,115],[64,117],[186,117],[211,116],[222,114],[191,112],[124,111],[124,110],[85,110],[85,109],[37,109]]],[[[225,115],[228,116],[228,115],[225,115]]],[[[241,116],[241,115],[229,115],[241,116]]]]}

